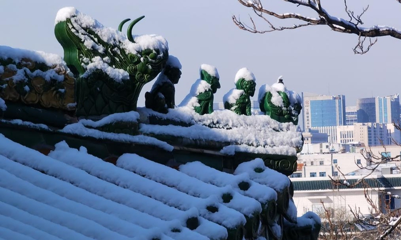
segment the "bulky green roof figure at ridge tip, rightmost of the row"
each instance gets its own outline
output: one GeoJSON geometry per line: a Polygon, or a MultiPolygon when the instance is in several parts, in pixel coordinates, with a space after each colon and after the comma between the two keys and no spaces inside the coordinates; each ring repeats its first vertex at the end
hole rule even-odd
{"type": "Polygon", "coordinates": [[[259,107],[266,115],[279,122],[298,124],[302,100],[297,92],[287,90],[283,76],[279,76],[272,86],[262,85],[259,88],[258,99],[259,107]]]}

